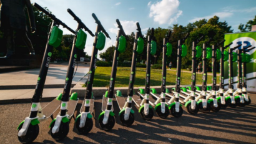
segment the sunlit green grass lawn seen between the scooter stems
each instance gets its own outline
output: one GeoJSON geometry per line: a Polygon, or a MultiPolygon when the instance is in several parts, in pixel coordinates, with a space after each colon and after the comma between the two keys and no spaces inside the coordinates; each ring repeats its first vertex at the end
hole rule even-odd
{"type": "MultiPolygon", "coordinates": [[[[108,87],[111,79],[112,67],[97,67],[94,75],[94,87],[108,87]]],[[[130,67],[118,67],[115,87],[128,87],[130,77],[130,67]]],[[[162,82],[162,70],[151,69],[150,86],[160,86],[162,82]]],[[[176,72],[167,70],[166,85],[175,85],[176,72]]],[[[208,75],[207,84],[212,83],[212,75],[208,75]]],[[[183,72],[181,85],[191,84],[191,74],[183,72]]],[[[202,74],[197,75],[197,84],[202,84],[202,74]]],[[[217,77],[219,84],[219,76],[217,77]]],[[[145,86],[145,68],[137,68],[135,75],[135,87],[145,86]]]]}

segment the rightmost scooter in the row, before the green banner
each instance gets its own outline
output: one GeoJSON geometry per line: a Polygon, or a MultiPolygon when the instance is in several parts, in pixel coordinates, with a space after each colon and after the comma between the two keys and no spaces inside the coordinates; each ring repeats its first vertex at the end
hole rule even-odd
{"type": "MultiPolygon", "coordinates": [[[[243,47],[243,49],[237,50],[237,74],[238,74],[237,79],[239,80],[239,82],[237,84],[237,90],[234,92],[234,95],[235,95],[235,103],[237,103],[237,105],[239,107],[245,107],[245,105],[246,105],[245,97],[242,95],[242,89],[243,89],[242,62],[246,61],[246,57],[243,57],[244,56],[243,51],[245,49],[248,49],[249,47],[251,47],[251,46],[243,47]]],[[[247,97],[247,101],[249,101],[248,97],[247,97]]]]}

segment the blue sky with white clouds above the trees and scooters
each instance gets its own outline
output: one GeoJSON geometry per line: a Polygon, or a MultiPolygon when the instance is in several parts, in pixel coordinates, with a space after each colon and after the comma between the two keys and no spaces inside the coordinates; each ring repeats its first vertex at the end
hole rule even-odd
{"type": "MultiPolygon", "coordinates": [[[[72,29],[76,29],[77,22],[67,12],[71,9],[84,24],[93,32],[96,23],[92,18],[95,13],[102,26],[109,33],[111,39],[106,39],[107,47],[115,44],[118,31],[116,19],[121,21],[126,34],[136,31],[139,22],[142,33],[149,27],[168,28],[173,24],[187,26],[189,22],[200,19],[210,19],[219,16],[220,21],[227,21],[234,32],[239,32],[239,24],[246,24],[256,15],[256,0],[31,0],[42,7],[47,7],[58,19],[72,29]]],[[[64,34],[71,34],[63,29],[64,34]]],[[[88,55],[92,53],[94,37],[87,33],[86,49],[88,55]]]]}

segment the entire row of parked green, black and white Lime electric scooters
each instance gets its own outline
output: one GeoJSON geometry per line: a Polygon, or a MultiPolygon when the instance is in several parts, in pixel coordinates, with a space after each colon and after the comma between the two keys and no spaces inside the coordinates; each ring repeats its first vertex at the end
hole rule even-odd
{"type": "MultiPolygon", "coordinates": [[[[34,96],[32,97],[31,112],[29,117],[26,117],[17,128],[18,138],[21,143],[30,143],[37,138],[39,134],[39,120],[46,120],[51,117],[52,122],[49,125],[51,128],[51,136],[55,140],[61,140],[67,136],[69,133],[69,121],[74,117],[74,111],[76,109],[77,102],[79,98],[76,92],[70,94],[72,78],[74,77],[74,69],[76,66],[76,49],[84,49],[86,44],[86,38],[88,32],[91,36],[94,36],[94,42],[92,47],[92,57],[91,65],[89,67],[89,75],[86,87],[86,95],[82,102],[82,107],[80,114],[76,117],[76,128],[79,133],[87,134],[92,130],[93,121],[92,115],[94,112],[94,97],[92,92],[92,85],[94,80],[94,73],[96,70],[96,59],[97,52],[104,49],[106,37],[109,37],[106,30],[102,26],[99,19],[97,19],[95,14],[92,17],[96,21],[96,32],[93,34],[86,25],[79,19],[79,17],[67,9],[67,12],[74,17],[77,21],[77,29],[73,31],[70,27],[66,26],[61,20],[57,19],[53,14],[46,11],[44,8],[38,4],[33,4],[37,9],[42,11],[47,16],[51,17],[52,24],[51,30],[48,33],[48,39],[46,44],[46,50],[42,60],[41,70],[39,72],[39,77],[37,79],[36,90],[34,96]],[[66,80],[64,84],[64,90],[58,97],[54,98],[52,102],[48,103],[45,107],[41,107],[40,101],[42,98],[42,91],[44,89],[44,83],[46,80],[47,70],[49,68],[49,62],[51,61],[52,49],[53,47],[58,47],[62,40],[62,31],[58,28],[62,25],[64,28],[68,29],[74,34],[74,41],[71,50],[71,57],[69,59],[69,65],[67,69],[66,80]],[[82,31],[84,29],[84,31],[82,31]],[[53,113],[58,109],[59,113],[56,118],[53,117],[53,113]]],[[[142,54],[144,51],[144,37],[142,35],[139,22],[137,22],[137,32],[135,32],[134,47],[132,54],[132,65],[130,69],[129,77],[129,88],[127,95],[122,95],[120,90],[114,91],[114,85],[116,81],[117,73],[117,62],[119,60],[119,54],[126,50],[126,42],[129,41],[126,36],[124,29],[122,28],[119,20],[116,20],[119,31],[117,33],[116,47],[114,50],[114,58],[112,62],[112,72],[109,84],[109,89],[103,95],[102,98],[102,112],[99,115],[99,124],[103,130],[111,130],[116,119],[114,116],[114,108],[112,107],[112,100],[116,97],[117,103],[120,108],[119,118],[124,126],[129,127],[134,123],[134,110],[132,110],[132,101],[139,108],[139,113],[144,120],[150,120],[154,117],[154,110],[160,118],[167,118],[169,114],[174,117],[182,116],[183,109],[182,104],[187,107],[187,111],[191,114],[197,112],[218,112],[220,108],[225,108],[227,105],[230,107],[236,107],[239,105],[244,107],[250,103],[250,98],[246,92],[246,63],[250,61],[250,55],[246,54],[249,50],[255,47],[249,48],[244,47],[244,49],[239,49],[237,52],[234,50],[237,47],[230,47],[231,44],[220,47],[217,49],[222,42],[217,44],[217,46],[212,46],[212,49],[207,47],[209,42],[203,45],[203,48],[197,46],[199,40],[194,41],[192,44],[192,84],[191,87],[180,87],[181,80],[181,60],[182,57],[187,55],[187,47],[184,42],[189,36],[187,34],[184,38],[180,39],[177,47],[177,77],[175,88],[168,90],[166,88],[166,59],[167,56],[172,54],[172,44],[170,44],[169,39],[171,36],[171,31],[166,34],[163,42],[163,59],[162,59],[162,85],[161,93],[157,94],[155,89],[150,89],[150,61],[151,55],[155,55],[157,44],[154,37],[154,29],[152,28],[149,36],[147,37],[147,68],[145,77],[145,89],[139,89],[138,92],[134,90],[135,81],[135,70],[136,70],[136,59],[138,54],[142,54]],[[202,56],[203,60],[203,84],[202,91],[195,85],[196,77],[196,59],[202,56]],[[212,59],[212,87],[207,87],[207,59],[212,59]],[[217,90],[216,87],[216,61],[220,60],[220,89],[217,90]],[[229,60],[229,90],[224,93],[224,61],[229,60]],[[238,61],[239,67],[239,86],[237,91],[233,92],[233,62],[238,61]],[[242,75],[243,74],[243,75],[242,75]],[[210,90],[211,89],[211,90],[210,90]],[[181,98],[180,98],[181,97],[181,98]],[[184,100],[182,100],[184,98],[184,100]]]]}

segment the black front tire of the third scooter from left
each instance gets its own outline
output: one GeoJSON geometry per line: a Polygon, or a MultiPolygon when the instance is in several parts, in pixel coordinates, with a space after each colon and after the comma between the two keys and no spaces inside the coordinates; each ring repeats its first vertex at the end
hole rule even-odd
{"type": "Polygon", "coordinates": [[[86,135],[87,133],[89,133],[92,130],[93,127],[93,121],[92,118],[86,118],[86,124],[84,125],[84,127],[80,128],[80,120],[81,117],[77,118],[76,121],[76,129],[78,130],[78,132],[82,135],[86,135]]]}

